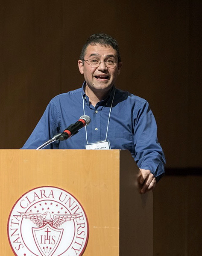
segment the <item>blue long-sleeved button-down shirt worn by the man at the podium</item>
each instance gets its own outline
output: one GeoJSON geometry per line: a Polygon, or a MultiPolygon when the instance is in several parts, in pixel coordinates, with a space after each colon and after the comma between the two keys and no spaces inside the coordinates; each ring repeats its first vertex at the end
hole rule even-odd
{"type": "Polygon", "coordinates": [[[64,131],[80,116],[90,116],[91,123],[68,140],[57,141],[46,149],[85,149],[88,143],[104,141],[111,109],[107,141],[111,149],[128,149],[139,168],[150,170],[158,179],[164,174],[164,153],[157,140],[157,126],[149,104],[143,98],[113,87],[108,97],[92,106],[85,95],[85,83],[80,89],[57,95],[48,104],[38,125],[23,149],[38,146],[64,131]]]}

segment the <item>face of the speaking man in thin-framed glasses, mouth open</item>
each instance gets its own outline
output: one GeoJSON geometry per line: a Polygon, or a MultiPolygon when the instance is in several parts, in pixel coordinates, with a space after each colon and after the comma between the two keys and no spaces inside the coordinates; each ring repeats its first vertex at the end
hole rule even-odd
{"type": "MultiPolygon", "coordinates": [[[[111,46],[88,45],[85,52],[84,60],[96,58],[99,60],[116,60],[117,52],[111,46]]],[[[87,62],[78,61],[79,71],[84,75],[86,85],[94,94],[107,93],[114,85],[117,76],[120,74],[122,63],[115,66],[106,66],[101,62],[98,67],[92,67],[87,62]]]]}

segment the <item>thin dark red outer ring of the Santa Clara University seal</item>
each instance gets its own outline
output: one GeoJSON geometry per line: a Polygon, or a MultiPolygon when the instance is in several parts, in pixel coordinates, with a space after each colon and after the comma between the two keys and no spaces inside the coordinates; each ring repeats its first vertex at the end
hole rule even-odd
{"type": "Polygon", "coordinates": [[[13,211],[13,209],[15,208],[15,205],[20,201],[20,199],[22,199],[23,196],[25,196],[27,193],[29,193],[29,192],[31,192],[31,191],[33,191],[33,190],[35,190],[35,189],[39,189],[39,188],[56,188],[56,189],[59,189],[59,190],[61,190],[61,191],[64,191],[64,192],[70,194],[70,196],[72,196],[77,202],[79,202],[79,205],[80,205],[80,207],[82,208],[82,210],[83,210],[83,212],[84,212],[84,214],[85,214],[86,223],[87,223],[86,241],[85,241],[85,245],[84,245],[84,247],[83,247],[83,249],[82,249],[82,251],[81,251],[81,253],[80,253],[80,256],[82,256],[83,253],[85,252],[85,249],[86,249],[87,244],[88,244],[88,239],[89,239],[89,223],[88,223],[87,214],[86,214],[86,212],[85,212],[85,210],[84,210],[82,204],[80,203],[80,201],[79,201],[75,196],[73,196],[72,193],[66,191],[66,190],[63,189],[63,188],[59,188],[59,187],[56,187],[56,186],[40,186],[40,187],[32,188],[32,189],[30,189],[29,191],[27,191],[26,193],[23,193],[23,195],[20,196],[20,198],[18,198],[18,200],[17,200],[17,201],[15,202],[15,204],[13,205],[13,207],[12,207],[10,213],[9,213],[8,222],[7,222],[7,236],[8,236],[8,240],[9,240],[10,247],[11,247],[11,249],[12,249],[14,255],[15,255],[15,256],[18,256],[18,255],[15,253],[15,250],[13,249],[13,246],[12,246],[12,243],[11,243],[10,237],[9,237],[9,221],[10,221],[10,217],[11,217],[11,215],[12,215],[12,211],[13,211]]]}

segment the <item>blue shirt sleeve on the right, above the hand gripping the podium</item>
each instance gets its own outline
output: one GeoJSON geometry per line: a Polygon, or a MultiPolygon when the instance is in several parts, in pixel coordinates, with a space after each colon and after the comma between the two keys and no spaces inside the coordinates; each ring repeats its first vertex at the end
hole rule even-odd
{"type": "Polygon", "coordinates": [[[147,101],[141,103],[135,113],[133,139],[138,167],[150,170],[158,181],[164,175],[165,157],[158,143],[155,117],[147,101]]]}

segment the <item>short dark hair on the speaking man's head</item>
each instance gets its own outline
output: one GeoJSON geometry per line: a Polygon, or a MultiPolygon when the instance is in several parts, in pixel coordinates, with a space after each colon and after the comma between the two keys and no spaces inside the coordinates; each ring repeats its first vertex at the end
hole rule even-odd
{"type": "Polygon", "coordinates": [[[109,36],[109,35],[106,35],[103,33],[94,34],[88,38],[87,42],[85,43],[85,45],[82,48],[82,51],[81,51],[81,54],[79,57],[80,60],[84,60],[85,51],[86,51],[86,48],[88,47],[88,45],[97,45],[97,44],[103,45],[103,46],[111,46],[114,50],[117,51],[118,62],[121,61],[120,53],[119,53],[119,46],[118,46],[116,39],[114,39],[112,36],[109,36]]]}

